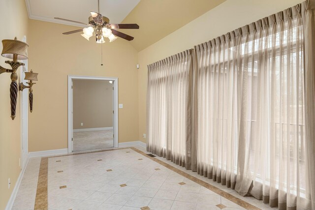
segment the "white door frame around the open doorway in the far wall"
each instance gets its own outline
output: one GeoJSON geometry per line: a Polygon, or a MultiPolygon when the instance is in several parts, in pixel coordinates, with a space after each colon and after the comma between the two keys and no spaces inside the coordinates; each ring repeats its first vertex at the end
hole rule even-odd
{"type": "Polygon", "coordinates": [[[72,80],[111,80],[114,86],[114,147],[118,148],[118,78],[68,75],[68,153],[73,150],[73,91],[72,80]]]}

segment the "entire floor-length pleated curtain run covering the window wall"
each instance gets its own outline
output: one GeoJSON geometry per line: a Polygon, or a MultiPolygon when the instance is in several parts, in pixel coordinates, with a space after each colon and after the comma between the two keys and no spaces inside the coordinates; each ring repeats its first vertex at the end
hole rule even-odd
{"type": "Polygon", "coordinates": [[[315,3],[148,66],[147,150],[270,207],[315,209],[315,3]]]}

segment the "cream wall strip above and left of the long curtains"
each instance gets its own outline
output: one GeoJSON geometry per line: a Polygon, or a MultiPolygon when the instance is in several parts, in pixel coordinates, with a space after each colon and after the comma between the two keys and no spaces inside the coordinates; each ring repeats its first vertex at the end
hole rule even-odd
{"type": "Polygon", "coordinates": [[[147,65],[282,11],[303,0],[226,0],[138,53],[139,140],[146,133],[147,65]]]}

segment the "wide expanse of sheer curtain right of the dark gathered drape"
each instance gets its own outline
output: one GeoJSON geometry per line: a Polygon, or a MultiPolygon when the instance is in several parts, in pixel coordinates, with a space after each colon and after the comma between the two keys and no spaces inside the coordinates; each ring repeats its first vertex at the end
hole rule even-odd
{"type": "Polygon", "coordinates": [[[280,209],[310,208],[301,12],[195,47],[198,173],[280,209]]]}

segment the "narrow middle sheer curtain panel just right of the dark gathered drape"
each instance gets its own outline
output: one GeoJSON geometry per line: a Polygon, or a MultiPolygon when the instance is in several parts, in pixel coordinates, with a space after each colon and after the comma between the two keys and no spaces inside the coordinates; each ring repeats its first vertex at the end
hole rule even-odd
{"type": "Polygon", "coordinates": [[[195,46],[197,172],[234,188],[237,166],[235,40],[229,34],[195,46]]]}

